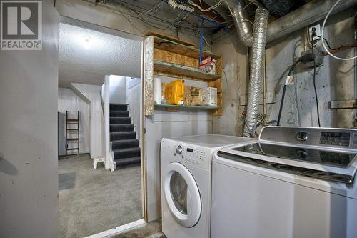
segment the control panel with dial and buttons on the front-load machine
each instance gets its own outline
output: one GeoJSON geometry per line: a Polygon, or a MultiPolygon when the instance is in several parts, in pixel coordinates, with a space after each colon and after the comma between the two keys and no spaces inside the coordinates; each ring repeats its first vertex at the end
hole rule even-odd
{"type": "Polygon", "coordinates": [[[196,167],[208,169],[210,163],[210,153],[207,149],[201,147],[193,147],[189,144],[178,144],[174,149],[174,156],[178,160],[183,160],[188,164],[196,167]]]}

